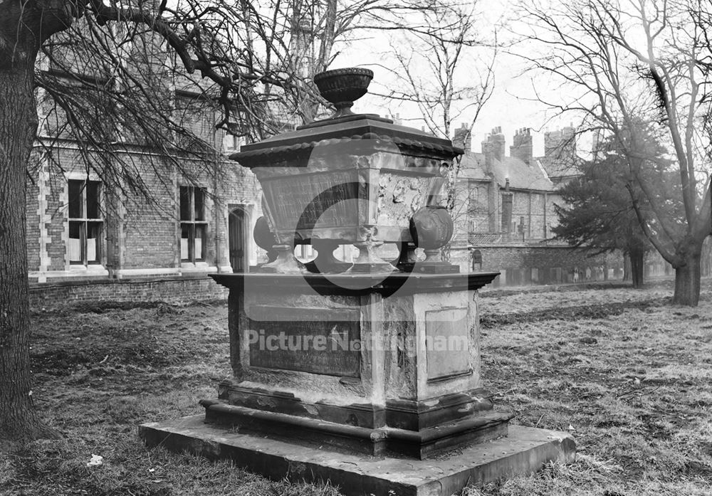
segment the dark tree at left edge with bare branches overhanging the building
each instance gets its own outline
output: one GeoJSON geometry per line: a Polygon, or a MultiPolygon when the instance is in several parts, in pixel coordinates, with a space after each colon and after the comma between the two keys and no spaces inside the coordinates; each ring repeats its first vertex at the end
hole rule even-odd
{"type": "Polygon", "coordinates": [[[365,29],[423,30],[403,20],[422,9],[429,1],[0,0],[0,440],[43,433],[25,248],[38,105],[48,157],[71,139],[109,189],[150,199],[130,149],[159,152],[157,176],[214,174],[216,143],[199,127],[261,139],[313,120],[323,101],[310,78],[337,43],[365,29]]]}

